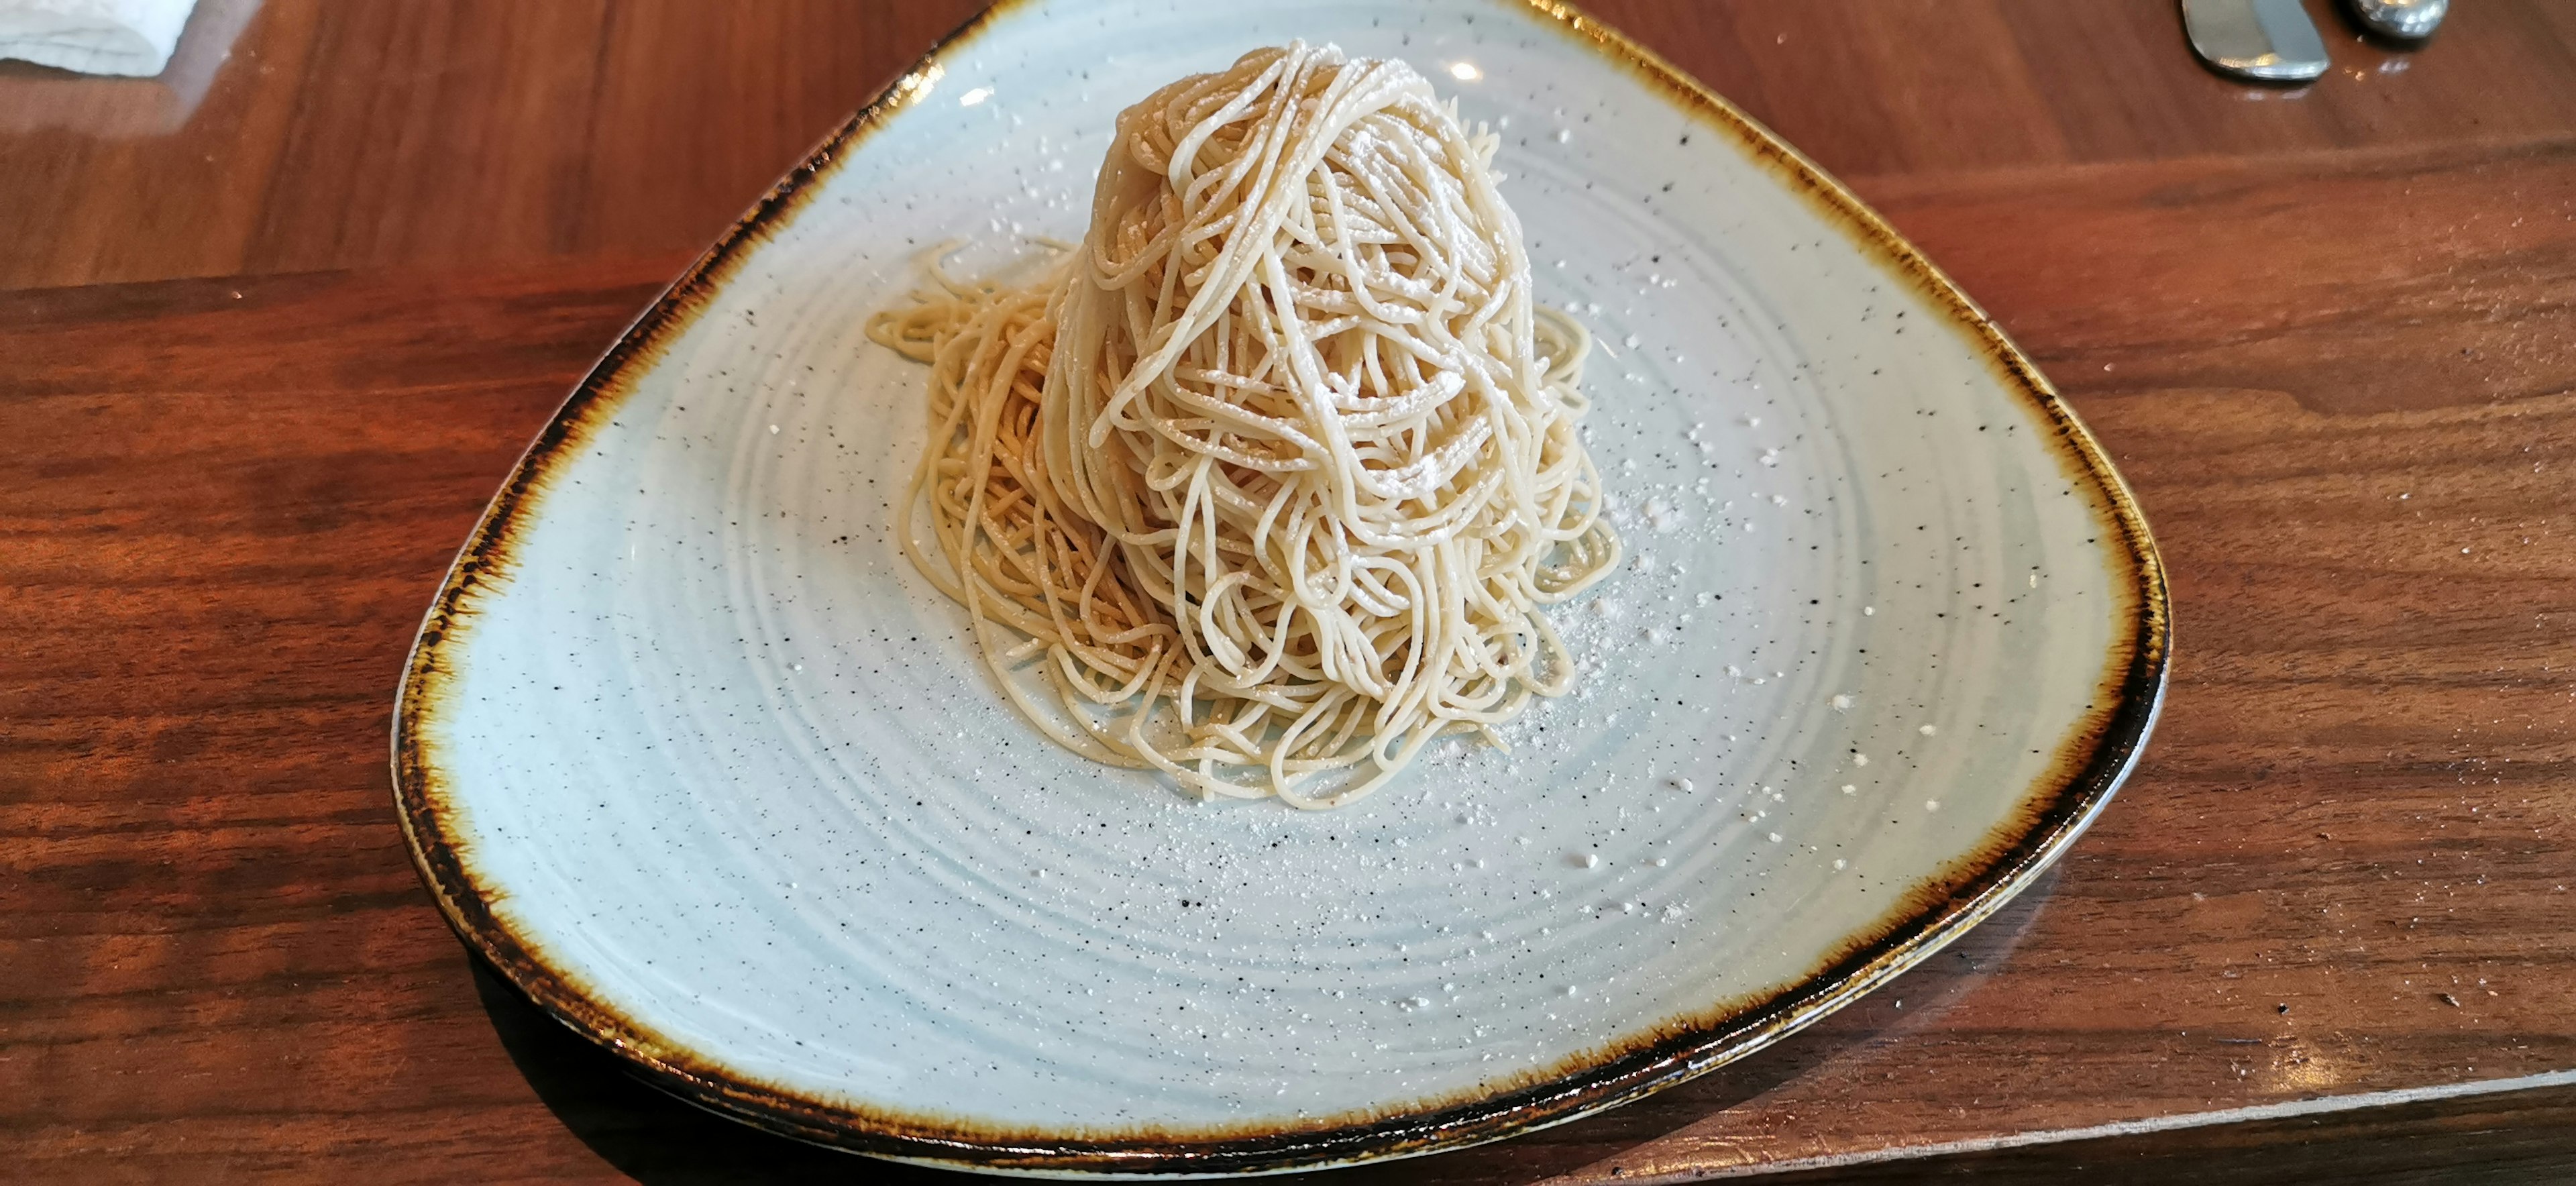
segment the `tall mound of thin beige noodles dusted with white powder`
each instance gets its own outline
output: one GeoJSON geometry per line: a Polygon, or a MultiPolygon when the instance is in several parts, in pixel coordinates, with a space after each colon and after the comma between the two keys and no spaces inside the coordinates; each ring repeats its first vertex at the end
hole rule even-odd
{"type": "Polygon", "coordinates": [[[1540,608],[1620,544],[1494,147],[1404,62],[1260,49],[1118,116],[1030,284],[933,260],[868,322],[930,364],[896,534],[1043,732],[1337,807],[1571,686],[1540,608]]]}

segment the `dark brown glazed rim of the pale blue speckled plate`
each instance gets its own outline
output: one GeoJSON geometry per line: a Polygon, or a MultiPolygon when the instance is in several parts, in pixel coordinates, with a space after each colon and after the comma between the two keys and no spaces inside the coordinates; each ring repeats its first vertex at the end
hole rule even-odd
{"type": "MultiPolygon", "coordinates": [[[[1293,1132],[1154,1132],[1133,1137],[1046,1137],[1025,1132],[981,1132],[943,1116],[902,1116],[855,1111],[804,1098],[765,1083],[732,1075],[719,1060],[680,1049],[626,1018],[580,977],[549,962],[541,949],[492,913],[492,895],[469,877],[440,810],[440,771],[435,771],[422,730],[435,691],[448,678],[446,647],[461,637],[471,614],[469,596],[497,585],[510,567],[513,526],[523,523],[556,462],[580,451],[590,425],[605,420],[629,376],[649,369],[662,348],[706,307],[739,260],[778,227],[796,217],[809,188],[858,147],[876,126],[909,108],[927,83],[943,72],[943,59],[997,21],[1033,8],[1005,0],[948,34],[912,70],[886,85],[866,108],[824,139],[768,196],[762,196],[714,248],[708,248],[600,358],[567,397],[564,407],[520,456],[510,480],[492,498],[438,598],[422,621],[404,665],[394,709],[394,799],[402,815],[412,861],[428,882],[440,913],[456,933],[492,962],[520,993],[556,1021],[616,1052],[644,1080],[786,1137],[832,1145],[878,1158],[933,1163],[974,1171],[1066,1173],[1066,1176],[1218,1176],[1280,1173],[1298,1168],[1347,1165],[1394,1155],[1479,1145],[1548,1124],[1589,1116],[1654,1091],[1685,1083],[1723,1062],[1752,1055],[1806,1024],[1870,993],[1880,982],[1919,964],[1971,926],[2009,902],[2058,853],[2063,853],[2136,766],[2156,712],[2164,701],[2169,601],[2164,562],[2148,536],[2128,485],[2094,443],[2092,433],[2058,400],[2056,389],[2004,333],[1958,286],[1899,237],[1875,211],[1842,183],[1780,142],[1731,103],[1690,80],[1654,52],[1615,28],[1556,0],[1494,0],[1522,5],[1546,28],[1602,54],[1700,124],[1739,142],[1783,183],[1801,191],[1829,224],[1842,229],[1865,255],[1909,278],[1937,307],[1950,309],[1960,330],[1984,345],[2002,384],[2030,402],[2038,425],[2061,451],[2061,462],[2092,482],[2097,516],[2110,531],[2115,578],[2130,583],[2133,624],[2115,639],[2105,694],[2107,714],[2058,753],[2053,773],[2022,794],[2017,822],[2004,825],[1976,848],[1976,856],[1922,882],[1870,941],[1852,944],[1801,982],[1762,1000],[1716,1008],[1703,1018],[1667,1024],[1656,1036],[1610,1055],[1584,1055],[1520,1085],[1473,1098],[1437,1101],[1404,1114],[1327,1119],[1293,1132]],[[2125,650],[2120,663],[2117,650],[2125,650]]],[[[2102,701],[2097,701],[2102,704],[2102,701]]]]}

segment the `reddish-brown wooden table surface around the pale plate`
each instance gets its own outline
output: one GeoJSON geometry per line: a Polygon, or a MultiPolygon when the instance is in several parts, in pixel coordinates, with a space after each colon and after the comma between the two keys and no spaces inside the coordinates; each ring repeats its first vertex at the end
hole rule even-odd
{"type": "MultiPolygon", "coordinates": [[[[1896,987],[1332,1181],[2576,1178],[2576,5],[2421,54],[2316,8],[2334,72],[2254,90],[2166,0],[1597,5],[2071,394],[2172,565],[2172,699],[2053,882],[1896,987]]],[[[201,0],[170,80],[0,67],[10,1178],[914,1178],[471,967],[386,714],[572,379],[966,10],[201,0]]]]}

